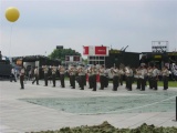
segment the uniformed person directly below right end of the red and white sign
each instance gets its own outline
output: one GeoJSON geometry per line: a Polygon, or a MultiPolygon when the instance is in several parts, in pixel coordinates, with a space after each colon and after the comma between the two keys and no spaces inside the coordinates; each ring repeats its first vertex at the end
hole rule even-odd
{"type": "Polygon", "coordinates": [[[105,75],[104,75],[104,65],[101,65],[98,74],[100,74],[100,83],[101,83],[101,89],[100,90],[104,90],[105,86],[105,75]]]}

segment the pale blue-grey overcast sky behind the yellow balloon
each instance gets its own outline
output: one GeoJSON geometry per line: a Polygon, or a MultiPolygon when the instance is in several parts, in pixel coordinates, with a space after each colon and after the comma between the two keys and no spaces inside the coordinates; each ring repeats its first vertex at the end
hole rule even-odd
{"type": "Polygon", "coordinates": [[[48,55],[56,45],[83,53],[83,45],[101,44],[150,52],[152,41],[177,50],[177,0],[0,0],[3,55],[48,55]],[[9,7],[20,11],[13,23],[4,17],[9,7]]]}

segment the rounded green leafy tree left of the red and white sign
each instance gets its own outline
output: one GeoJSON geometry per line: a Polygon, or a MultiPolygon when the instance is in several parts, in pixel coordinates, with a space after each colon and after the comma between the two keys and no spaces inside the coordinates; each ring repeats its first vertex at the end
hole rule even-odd
{"type": "Polygon", "coordinates": [[[53,52],[49,55],[49,58],[65,61],[65,55],[81,55],[81,53],[72,49],[54,49],[53,52]]]}

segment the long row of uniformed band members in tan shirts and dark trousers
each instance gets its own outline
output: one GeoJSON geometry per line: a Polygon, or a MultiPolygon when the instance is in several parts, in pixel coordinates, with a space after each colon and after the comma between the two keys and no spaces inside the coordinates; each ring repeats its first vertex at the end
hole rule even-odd
{"type": "MultiPolygon", "coordinates": [[[[77,81],[79,86],[81,90],[84,90],[84,86],[86,85],[86,76],[88,79],[88,88],[93,89],[93,91],[96,91],[96,76],[100,75],[100,89],[104,90],[104,88],[108,86],[108,75],[112,75],[113,78],[113,91],[117,91],[117,88],[119,85],[123,85],[123,80],[126,81],[126,89],[128,91],[132,91],[132,84],[134,82],[134,79],[137,81],[137,88],[140,91],[145,91],[146,82],[149,83],[149,89],[157,90],[157,81],[158,75],[163,75],[164,81],[164,90],[168,89],[168,76],[169,72],[166,66],[162,69],[162,72],[156,66],[148,66],[142,65],[137,69],[132,69],[129,66],[113,66],[111,69],[105,69],[104,65],[92,65],[90,68],[84,68],[83,65],[75,66],[72,65],[69,68],[69,70],[65,70],[63,65],[60,66],[48,66],[43,65],[42,70],[44,72],[44,85],[48,86],[48,80],[49,80],[49,70],[51,70],[51,78],[53,81],[53,86],[55,86],[55,78],[56,78],[56,71],[60,72],[60,80],[61,80],[61,88],[65,88],[64,78],[65,73],[70,76],[70,85],[72,89],[75,89],[75,81],[77,81]]],[[[39,68],[35,66],[34,69],[34,80],[32,81],[32,84],[37,82],[39,84],[39,68]]],[[[23,85],[22,85],[23,88],[23,85]]]]}

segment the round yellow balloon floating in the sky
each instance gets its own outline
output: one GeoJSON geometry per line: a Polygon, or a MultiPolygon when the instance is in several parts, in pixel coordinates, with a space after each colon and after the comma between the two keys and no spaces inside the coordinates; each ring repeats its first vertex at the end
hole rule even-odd
{"type": "Polygon", "coordinates": [[[10,7],[6,10],[6,18],[10,22],[15,22],[20,17],[20,12],[17,8],[10,7]]]}

